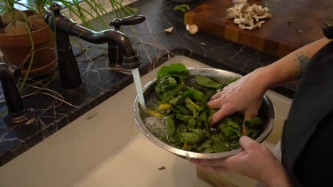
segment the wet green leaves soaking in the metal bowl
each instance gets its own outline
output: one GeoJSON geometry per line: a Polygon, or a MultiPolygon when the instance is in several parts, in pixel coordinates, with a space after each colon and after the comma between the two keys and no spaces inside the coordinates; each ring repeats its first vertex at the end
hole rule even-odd
{"type": "Polygon", "coordinates": [[[216,110],[207,105],[211,96],[233,81],[222,82],[209,77],[189,76],[184,64],[162,67],[157,73],[155,103],[147,115],[164,119],[169,145],[192,152],[226,152],[238,149],[242,135],[255,139],[263,130],[259,117],[243,122],[243,115],[234,113],[210,127],[216,110]],[[244,123],[245,132],[242,131],[244,123]]]}

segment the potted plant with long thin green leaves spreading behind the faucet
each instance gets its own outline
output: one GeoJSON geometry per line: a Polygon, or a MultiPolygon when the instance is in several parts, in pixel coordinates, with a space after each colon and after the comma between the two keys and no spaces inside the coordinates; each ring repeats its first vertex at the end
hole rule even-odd
{"type": "MultiPolygon", "coordinates": [[[[83,0],[90,7],[90,11],[82,8],[81,1],[60,0],[57,3],[68,8],[70,15],[80,19],[80,23],[88,24],[87,17],[95,18],[104,28],[107,21],[102,15],[107,11],[98,0],[83,0]]],[[[4,0],[0,4],[0,50],[6,62],[20,67],[22,75],[34,76],[50,72],[56,67],[56,42],[53,30],[43,21],[43,16],[52,4],[51,0],[28,0],[23,4],[21,0],[4,0]],[[20,11],[14,5],[23,6],[28,11],[20,11]]],[[[109,0],[113,9],[125,8],[117,0],[109,0]]],[[[125,11],[130,11],[125,8],[125,11]]],[[[120,10],[121,16],[125,13],[120,10]]],[[[118,16],[118,14],[117,14],[118,16]]]]}

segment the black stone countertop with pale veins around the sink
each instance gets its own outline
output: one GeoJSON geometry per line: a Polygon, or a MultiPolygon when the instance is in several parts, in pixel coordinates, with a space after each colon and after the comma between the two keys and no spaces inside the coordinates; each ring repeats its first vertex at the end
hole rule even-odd
{"type": "MultiPolygon", "coordinates": [[[[193,8],[201,2],[203,1],[189,5],[193,8]]],[[[221,40],[208,33],[189,34],[184,26],[184,13],[173,10],[176,5],[169,0],[140,0],[130,5],[132,8],[139,8],[140,14],[147,18],[144,23],[133,26],[139,40],[125,29],[142,57],[143,63],[139,67],[141,75],[176,55],[191,57],[212,67],[243,75],[278,60],[277,57],[221,40]],[[164,32],[164,28],[170,26],[174,27],[174,32],[164,32]]],[[[74,51],[85,91],[75,96],[63,93],[56,71],[28,81],[29,86],[35,86],[35,89],[26,89],[21,96],[25,106],[35,110],[36,119],[29,125],[7,125],[3,120],[0,121],[0,166],[132,83],[130,70],[108,66],[106,45],[91,45],[88,42],[83,44],[85,50],[74,47],[74,51]],[[46,86],[45,89],[38,89],[43,86],[46,86]],[[55,97],[60,98],[56,92],[66,102],[56,99],[55,97]]],[[[295,89],[296,85],[288,84],[278,86],[273,91],[292,98],[295,89]]],[[[1,111],[4,112],[6,103],[3,96],[0,99],[1,111]]]]}

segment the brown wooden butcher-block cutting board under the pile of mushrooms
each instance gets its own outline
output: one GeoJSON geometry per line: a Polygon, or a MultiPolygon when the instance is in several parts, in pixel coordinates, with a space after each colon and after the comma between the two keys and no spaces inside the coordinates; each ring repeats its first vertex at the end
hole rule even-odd
{"type": "Polygon", "coordinates": [[[333,1],[267,0],[248,1],[250,5],[268,6],[273,17],[261,28],[241,30],[226,18],[231,0],[208,0],[185,13],[185,24],[196,24],[199,30],[218,37],[249,45],[255,49],[283,57],[303,45],[324,37],[324,23],[333,25],[333,1]],[[288,18],[292,23],[288,24],[288,18]]]}

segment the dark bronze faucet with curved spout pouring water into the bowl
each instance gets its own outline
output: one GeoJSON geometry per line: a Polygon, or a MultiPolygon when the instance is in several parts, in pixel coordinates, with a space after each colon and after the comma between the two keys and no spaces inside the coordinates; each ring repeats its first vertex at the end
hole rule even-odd
{"type": "MultiPolygon", "coordinates": [[[[61,8],[59,4],[52,4],[50,9],[53,11],[53,15],[48,14],[44,16],[44,19],[56,32],[59,77],[61,86],[65,91],[75,93],[84,89],[78,63],[75,60],[72,46],[70,45],[70,35],[95,44],[108,43],[109,60],[114,58],[118,59],[118,57],[112,56],[115,54],[121,57],[123,56],[123,58],[120,57],[119,59],[122,59],[122,67],[127,69],[135,69],[142,63],[142,59],[139,57],[131,40],[129,40],[124,33],[120,32],[118,28],[98,32],[84,28],[60,13],[61,8]],[[115,52],[115,50],[120,53],[115,52]]],[[[141,22],[144,21],[142,18],[139,20],[141,22]]],[[[130,21],[129,23],[137,22],[130,21]]]]}

